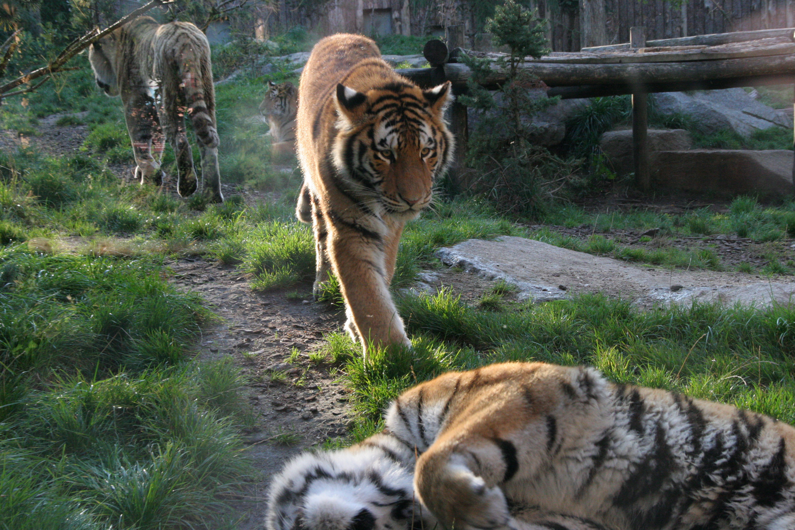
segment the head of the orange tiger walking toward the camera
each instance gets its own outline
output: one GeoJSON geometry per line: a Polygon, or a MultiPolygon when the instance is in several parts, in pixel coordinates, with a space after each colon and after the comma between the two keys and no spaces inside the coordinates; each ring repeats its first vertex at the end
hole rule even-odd
{"type": "Polygon", "coordinates": [[[419,214],[452,161],[444,122],[452,99],[449,81],[429,90],[394,81],[366,93],[338,84],[334,164],[348,186],[389,214],[419,214]]]}

